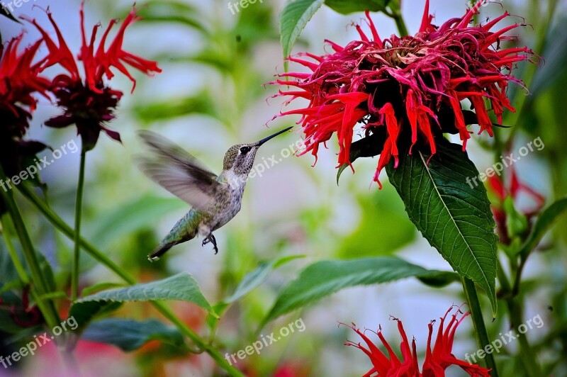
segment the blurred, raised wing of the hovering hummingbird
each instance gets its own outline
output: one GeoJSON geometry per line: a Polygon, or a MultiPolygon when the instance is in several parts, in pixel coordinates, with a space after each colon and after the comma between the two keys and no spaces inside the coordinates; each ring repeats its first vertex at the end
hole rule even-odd
{"type": "Polygon", "coordinates": [[[194,208],[206,208],[221,189],[221,184],[216,181],[217,176],[196,157],[165,137],[150,131],[140,131],[138,135],[151,152],[140,157],[142,171],[194,208]]]}

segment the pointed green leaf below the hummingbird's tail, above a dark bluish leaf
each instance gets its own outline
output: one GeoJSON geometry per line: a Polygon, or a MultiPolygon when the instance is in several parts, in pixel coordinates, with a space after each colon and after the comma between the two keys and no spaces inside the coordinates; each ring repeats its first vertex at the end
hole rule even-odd
{"type": "Polygon", "coordinates": [[[191,274],[186,272],[164,278],[163,280],[152,281],[151,283],[101,291],[91,296],[79,298],[76,302],[110,301],[130,303],[133,301],[157,300],[184,300],[201,306],[201,308],[208,310],[210,313],[213,311],[203,293],[201,293],[198,283],[191,274]]]}

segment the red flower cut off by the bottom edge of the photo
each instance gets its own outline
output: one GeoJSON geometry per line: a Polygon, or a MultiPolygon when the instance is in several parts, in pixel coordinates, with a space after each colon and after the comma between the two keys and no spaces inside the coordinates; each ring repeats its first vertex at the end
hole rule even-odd
{"type": "Polygon", "coordinates": [[[433,323],[432,321],[429,327],[429,335],[427,337],[427,350],[425,354],[425,361],[423,363],[423,372],[420,372],[419,365],[417,364],[417,351],[415,347],[415,338],[412,340],[412,345],[410,347],[410,342],[408,342],[408,335],[405,334],[403,330],[402,321],[394,318],[398,322],[398,331],[402,337],[402,343],[400,344],[400,350],[402,352],[402,360],[398,359],[395,355],[392,347],[386,339],[383,337],[381,329],[378,330],[378,338],[382,342],[383,346],[386,347],[388,351],[388,356],[383,354],[383,352],[378,349],[378,346],[374,344],[364,332],[361,332],[357,327],[352,325],[352,330],[356,331],[366,345],[368,349],[362,346],[360,343],[354,343],[347,341],[345,345],[354,346],[358,349],[364,351],[364,353],[369,356],[373,368],[366,373],[363,377],[371,376],[395,376],[395,377],[442,377],[445,376],[445,369],[451,365],[457,365],[463,368],[469,376],[489,376],[489,369],[481,368],[481,366],[470,364],[467,361],[456,359],[453,354],[451,354],[451,349],[453,348],[453,340],[455,336],[456,328],[461,322],[466,318],[470,312],[465,313],[461,318],[457,319],[457,314],[461,313],[459,309],[456,310],[454,315],[451,315],[451,320],[444,330],[444,321],[449,315],[452,308],[447,310],[444,317],[440,318],[441,324],[439,325],[439,330],[437,332],[437,338],[435,339],[435,344],[433,349],[431,348],[431,338],[433,334],[433,323]],[[376,375],[374,374],[376,373],[376,375]]]}

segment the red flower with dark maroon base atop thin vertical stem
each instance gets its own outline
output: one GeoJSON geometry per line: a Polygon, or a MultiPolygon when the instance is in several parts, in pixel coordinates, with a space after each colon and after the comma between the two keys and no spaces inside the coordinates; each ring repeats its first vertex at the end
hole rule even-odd
{"type": "Polygon", "coordinates": [[[50,19],[55,33],[57,33],[57,44],[50,38],[47,32],[38,25],[35,19],[24,18],[26,21],[40,30],[43,39],[49,49],[49,56],[43,60],[41,69],[46,69],[55,64],[60,64],[66,74],[60,74],[52,81],[51,90],[57,97],[57,104],[64,109],[62,115],[51,118],[45,122],[45,125],[55,128],[67,127],[68,125],[77,125],[77,131],[83,140],[85,150],[91,150],[99,139],[101,130],[114,140],[120,141],[120,135],[115,131],[109,130],[104,123],[114,118],[114,110],[118,106],[118,101],[123,95],[121,91],[111,89],[103,80],[112,79],[114,73],[112,67],[125,74],[133,81],[132,91],[135,89],[136,81],[126,68],[127,65],[144,72],[152,74],[152,72],[162,72],[157,67],[156,62],[145,60],[142,57],[133,55],[123,50],[122,43],[126,28],[131,23],[139,20],[136,11],[132,11],[123,21],[114,40],[105,49],[106,38],[111,28],[117,23],[112,20],[108,28],[106,28],[99,46],[95,48],[96,31],[99,26],[94,26],[89,40],[86,38],[84,29],[84,3],[81,4],[81,35],[82,47],[77,59],[83,62],[84,77],[79,72],[79,67],[75,61],[67,43],[57,27],[52,14],[46,11],[47,17],[50,19]]]}

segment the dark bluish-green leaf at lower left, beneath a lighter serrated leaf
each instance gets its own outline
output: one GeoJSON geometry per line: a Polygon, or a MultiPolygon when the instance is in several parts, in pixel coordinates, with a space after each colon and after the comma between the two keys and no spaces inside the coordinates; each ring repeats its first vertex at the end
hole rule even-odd
{"type": "Polygon", "coordinates": [[[176,347],[184,347],[184,337],[174,327],[158,320],[136,321],[124,318],[106,318],[91,323],[82,339],[112,344],[123,351],[135,351],[151,340],[160,340],[176,347]]]}

